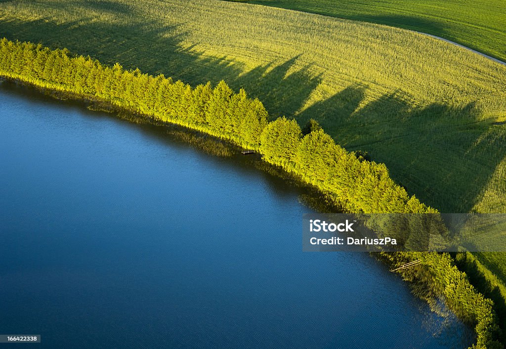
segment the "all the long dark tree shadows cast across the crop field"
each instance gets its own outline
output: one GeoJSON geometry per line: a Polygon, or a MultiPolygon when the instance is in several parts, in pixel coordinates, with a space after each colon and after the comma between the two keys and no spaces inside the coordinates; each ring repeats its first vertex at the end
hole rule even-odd
{"type": "MultiPolygon", "coordinates": [[[[204,57],[195,47],[183,46],[187,33],[181,27],[143,18],[129,6],[104,1],[75,6],[117,16],[118,21],[105,23],[91,15],[60,25],[44,19],[4,21],[0,36],[66,47],[105,64],[119,62],[126,69],[163,73],[193,86],[224,79],[235,91],[244,88],[258,97],[271,117],[295,115],[321,82],[309,65],[294,69],[298,56],[247,69],[232,59],[204,57]]],[[[434,103],[413,109],[401,93],[392,92],[358,109],[366,89],[350,85],[317,101],[297,119],[304,125],[314,118],[336,143],[385,162],[392,178],[421,201],[445,212],[469,211],[506,154],[504,137],[478,122],[480,113],[473,105],[434,103]]]]}

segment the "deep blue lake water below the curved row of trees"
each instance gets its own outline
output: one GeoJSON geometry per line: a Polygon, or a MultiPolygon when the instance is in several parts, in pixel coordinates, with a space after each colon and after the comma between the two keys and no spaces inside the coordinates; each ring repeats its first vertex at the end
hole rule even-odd
{"type": "Polygon", "coordinates": [[[7,83],[0,124],[0,334],[28,347],[472,341],[368,254],[302,252],[305,190],[253,157],[7,83]]]}

